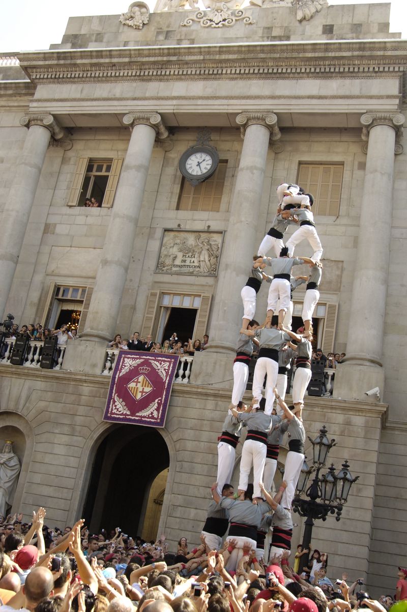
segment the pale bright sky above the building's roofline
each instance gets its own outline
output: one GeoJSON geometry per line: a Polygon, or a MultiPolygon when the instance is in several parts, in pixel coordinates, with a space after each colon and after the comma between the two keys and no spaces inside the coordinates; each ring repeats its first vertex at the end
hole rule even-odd
{"type": "MultiPolygon", "coordinates": [[[[0,1],[0,53],[48,49],[61,42],[69,17],[78,15],[120,15],[132,0],[20,0],[0,1]]],[[[329,4],[367,4],[380,0],[329,0],[329,4]]],[[[153,10],[155,0],[146,0],[153,10]]],[[[390,32],[407,38],[407,0],[391,0],[390,32]]]]}

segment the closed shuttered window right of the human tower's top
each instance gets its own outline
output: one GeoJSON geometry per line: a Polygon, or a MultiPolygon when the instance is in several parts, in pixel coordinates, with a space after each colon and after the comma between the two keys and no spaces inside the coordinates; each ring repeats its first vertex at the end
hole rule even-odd
{"type": "Polygon", "coordinates": [[[339,214],[343,165],[300,163],[298,184],[314,196],[314,215],[339,214]]]}

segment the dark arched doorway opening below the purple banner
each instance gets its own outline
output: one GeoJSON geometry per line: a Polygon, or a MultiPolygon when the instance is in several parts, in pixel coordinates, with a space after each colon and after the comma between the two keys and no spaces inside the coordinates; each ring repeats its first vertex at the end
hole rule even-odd
{"type": "Polygon", "coordinates": [[[153,427],[112,426],[94,458],[83,517],[91,532],[120,526],[143,532],[151,484],[169,467],[164,438],[153,427]]]}

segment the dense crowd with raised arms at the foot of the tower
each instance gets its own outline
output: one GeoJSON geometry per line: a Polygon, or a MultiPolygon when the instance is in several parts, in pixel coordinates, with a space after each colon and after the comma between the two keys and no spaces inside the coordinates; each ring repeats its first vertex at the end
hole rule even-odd
{"type": "Polygon", "coordinates": [[[246,543],[236,570],[229,570],[233,540],[215,550],[201,535],[189,550],[181,537],[169,550],[164,534],[145,542],[120,528],[91,534],[84,520],[50,528],[45,517],[44,508],[31,523],[23,515],[1,517],[0,612],[387,612],[392,606],[397,612],[395,602],[407,599],[402,567],[395,591],[374,600],[362,578],[352,584],[347,573],[327,578],[328,555],[318,550],[299,574],[300,547],[292,565],[289,551],[267,565],[246,543]]]}

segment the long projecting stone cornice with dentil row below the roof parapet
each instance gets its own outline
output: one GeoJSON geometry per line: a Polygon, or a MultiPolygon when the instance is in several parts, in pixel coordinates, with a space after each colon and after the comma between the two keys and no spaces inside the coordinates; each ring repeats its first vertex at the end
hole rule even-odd
{"type": "Polygon", "coordinates": [[[256,43],[38,51],[19,55],[34,83],[402,74],[405,41],[256,43]]]}

